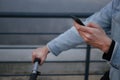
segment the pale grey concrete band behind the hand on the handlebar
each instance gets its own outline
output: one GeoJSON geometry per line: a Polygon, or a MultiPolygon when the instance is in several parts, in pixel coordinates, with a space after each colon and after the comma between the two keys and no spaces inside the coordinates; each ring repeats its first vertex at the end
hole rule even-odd
{"type": "MultiPolygon", "coordinates": [[[[37,46],[13,46],[13,45],[0,45],[0,61],[31,61],[32,51],[36,47],[42,47],[41,45],[37,46]],[[10,47],[11,49],[9,49],[10,47]],[[22,49],[20,47],[23,47],[22,49]],[[26,49],[26,47],[34,47],[26,49]],[[4,48],[4,49],[3,49],[4,48]],[[5,49],[7,48],[7,49],[5,49]],[[14,49],[16,48],[16,49],[14,49]],[[20,49],[19,49],[20,48],[20,49]]],[[[86,47],[81,45],[80,47],[86,47]]],[[[102,52],[98,49],[91,49],[91,60],[102,60],[102,52]]],[[[46,61],[76,61],[76,60],[85,60],[86,58],[86,49],[70,49],[63,51],[59,56],[54,56],[50,53],[46,61]]]]}

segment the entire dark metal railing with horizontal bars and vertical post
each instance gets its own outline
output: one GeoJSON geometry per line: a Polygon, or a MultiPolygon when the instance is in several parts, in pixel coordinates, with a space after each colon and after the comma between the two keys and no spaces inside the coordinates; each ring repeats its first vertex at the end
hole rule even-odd
{"type": "MultiPolygon", "coordinates": [[[[71,18],[70,15],[75,15],[77,17],[86,18],[93,13],[25,13],[25,12],[0,12],[0,18],[71,18]]],[[[59,35],[60,33],[0,33],[0,35],[59,35]]],[[[0,49],[33,49],[36,47],[0,47],[0,49]]],[[[90,63],[90,50],[91,47],[87,45],[86,48],[86,67],[85,67],[85,77],[84,80],[88,80],[89,77],[89,63],[90,63]]],[[[14,61],[16,62],[16,61],[14,61]]],[[[14,63],[11,62],[11,63],[14,63]]],[[[47,61],[48,63],[60,61],[47,61]]],[[[46,63],[47,63],[46,62],[46,63]]],[[[62,61],[63,62],[63,61],[62,61]]],[[[71,61],[64,61],[64,62],[71,62],[71,61]]],[[[73,61],[73,62],[82,62],[82,61],[73,61]]],[[[95,62],[95,61],[93,61],[95,62]]],[[[96,61],[97,62],[97,61],[96,61]]],[[[98,61],[99,62],[99,61],[98,61]]],[[[0,62],[0,63],[7,63],[7,62],[0,62]]],[[[21,62],[20,62],[21,63],[21,62]]],[[[22,62],[25,63],[25,62],[22,62]]],[[[66,76],[66,75],[81,75],[81,74],[43,74],[42,76],[66,76]]],[[[27,75],[0,75],[0,76],[27,76],[27,75]]],[[[29,76],[29,75],[28,75],[29,76]]]]}

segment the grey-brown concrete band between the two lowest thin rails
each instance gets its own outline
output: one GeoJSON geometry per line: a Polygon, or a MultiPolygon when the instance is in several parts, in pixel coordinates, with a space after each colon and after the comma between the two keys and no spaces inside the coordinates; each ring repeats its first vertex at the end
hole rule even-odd
{"type": "MultiPolygon", "coordinates": [[[[0,74],[30,74],[32,63],[0,63],[0,74]]],[[[90,74],[102,74],[109,66],[106,62],[90,63],[90,74]]],[[[85,74],[85,63],[44,63],[39,67],[41,74],[85,74]]]]}

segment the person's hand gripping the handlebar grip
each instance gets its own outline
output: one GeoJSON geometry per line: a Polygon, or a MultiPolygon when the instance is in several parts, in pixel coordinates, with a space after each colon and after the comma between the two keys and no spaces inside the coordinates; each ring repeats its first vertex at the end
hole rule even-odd
{"type": "Polygon", "coordinates": [[[47,46],[44,46],[42,48],[37,48],[32,52],[32,62],[34,62],[35,58],[40,59],[40,64],[43,64],[45,59],[47,58],[49,50],[47,46]]]}

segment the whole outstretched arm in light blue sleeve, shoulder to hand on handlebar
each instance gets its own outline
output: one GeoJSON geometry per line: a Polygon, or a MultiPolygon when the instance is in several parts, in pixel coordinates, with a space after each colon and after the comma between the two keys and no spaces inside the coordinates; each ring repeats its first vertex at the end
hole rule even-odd
{"type": "MultiPolygon", "coordinates": [[[[103,8],[100,12],[94,14],[93,16],[89,17],[84,23],[87,24],[89,22],[95,22],[102,26],[105,31],[110,29],[110,19],[111,19],[111,7],[112,2],[110,2],[105,8],[103,8]],[[106,10],[107,11],[106,11],[106,10]],[[106,14],[109,13],[109,14],[106,14]]],[[[35,57],[42,58],[45,57],[48,53],[48,50],[54,53],[55,55],[58,55],[61,51],[70,49],[80,43],[83,42],[83,39],[79,36],[79,33],[77,30],[72,27],[65,33],[61,34],[57,38],[50,41],[47,46],[45,46],[43,52],[41,52],[39,49],[37,52],[33,51],[33,60],[35,57]],[[46,50],[46,51],[45,51],[46,50]],[[42,55],[42,56],[41,56],[42,55]]],[[[45,60],[44,58],[44,60],[45,60]]],[[[44,61],[42,60],[42,62],[44,61]]],[[[41,62],[41,63],[42,63],[41,62]]]]}

